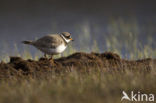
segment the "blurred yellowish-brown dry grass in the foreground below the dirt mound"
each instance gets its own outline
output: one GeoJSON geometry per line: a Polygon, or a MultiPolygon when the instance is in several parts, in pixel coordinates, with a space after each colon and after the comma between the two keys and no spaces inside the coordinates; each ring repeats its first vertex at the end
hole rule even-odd
{"type": "Polygon", "coordinates": [[[156,72],[72,71],[1,81],[1,103],[120,103],[122,91],[156,94],[156,72]],[[146,81],[146,82],[145,82],[146,81]]]}

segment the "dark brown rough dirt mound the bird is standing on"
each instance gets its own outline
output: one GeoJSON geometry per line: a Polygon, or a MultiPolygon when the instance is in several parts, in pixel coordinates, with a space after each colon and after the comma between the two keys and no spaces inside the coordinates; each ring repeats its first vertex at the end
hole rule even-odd
{"type": "Polygon", "coordinates": [[[150,71],[155,68],[156,60],[144,59],[128,61],[121,59],[119,55],[111,52],[105,53],[74,53],[68,57],[55,59],[46,58],[35,60],[23,60],[20,57],[11,57],[9,63],[0,63],[0,78],[12,76],[40,76],[43,73],[70,72],[73,69],[79,71],[90,71],[91,69],[101,69],[106,71],[140,70],[150,71]]]}

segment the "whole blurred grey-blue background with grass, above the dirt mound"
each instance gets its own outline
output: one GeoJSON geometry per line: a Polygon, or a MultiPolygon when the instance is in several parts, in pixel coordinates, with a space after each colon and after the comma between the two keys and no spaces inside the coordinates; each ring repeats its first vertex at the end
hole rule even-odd
{"type": "Polygon", "coordinates": [[[0,0],[0,57],[41,56],[22,40],[70,32],[75,51],[156,57],[154,0],[0,0]]]}

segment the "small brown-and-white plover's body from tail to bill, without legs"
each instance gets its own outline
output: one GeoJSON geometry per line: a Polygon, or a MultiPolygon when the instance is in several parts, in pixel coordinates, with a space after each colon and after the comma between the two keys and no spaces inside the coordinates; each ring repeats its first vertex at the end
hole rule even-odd
{"type": "Polygon", "coordinates": [[[62,53],[71,40],[71,34],[63,32],[61,34],[46,35],[35,41],[23,41],[22,43],[33,45],[45,54],[55,55],[62,53]]]}

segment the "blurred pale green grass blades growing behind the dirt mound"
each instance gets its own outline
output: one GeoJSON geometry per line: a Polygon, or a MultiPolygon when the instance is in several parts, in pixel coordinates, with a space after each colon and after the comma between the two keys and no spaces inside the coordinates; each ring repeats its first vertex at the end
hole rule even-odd
{"type": "MultiPolygon", "coordinates": [[[[77,34],[75,42],[69,44],[69,47],[63,54],[55,57],[67,56],[76,51],[111,51],[118,53],[125,59],[156,58],[156,38],[152,22],[147,22],[140,26],[137,19],[132,17],[130,19],[110,18],[107,24],[104,28],[106,32],[100,33],[100,35],[99,29],[102,28],[98,24],[91,27],[91,23],[84,21],[79,25],[75,25],[75,34],[77,34]],[[146,31],[146,34],[143,35],[142,32],[144,31],[146,31]]],[[[53,29],[57,30],[57,26],[54,25],[54,27],[53,29]]],[[[9,56],[22,56],[24,59],[33,58],[36,60],[43,56],[37,50],[32,54],[31,50],[33,47],[30,46],[23,46],[23,49],[20,48],[21,51],[18,47],[19,44],[14,44],[14,50],[10,52],[8,45],[4,42],[0,52],[1,60],[6,62],[9,61],[9,56]]]]}

